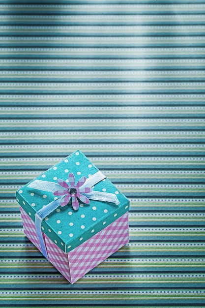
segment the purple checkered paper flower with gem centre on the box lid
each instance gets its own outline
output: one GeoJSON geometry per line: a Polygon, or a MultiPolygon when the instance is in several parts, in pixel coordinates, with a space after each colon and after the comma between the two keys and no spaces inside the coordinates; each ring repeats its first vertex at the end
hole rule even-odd
{"type": "Polygon", "coordinates": [[[81,186],[86,182],[86,177],[82,177],[77,184],[75,185],[75,177],[72,173],[68,175],[69,184],[68,185],[65,181],[58,179],[59,185],[62,187],[61,189],[54,192],[55,196],[64,196],[62,201],[60,202],[60,206],[63,207],[70,201],[72,198],[72,207],[74,210],[78,210],[79,202],[82,201],[83,203],[89,204],[89,199],[82,195],[82,193],[88,193],[92,191],[90,187],[83,187],[81,186]]]}

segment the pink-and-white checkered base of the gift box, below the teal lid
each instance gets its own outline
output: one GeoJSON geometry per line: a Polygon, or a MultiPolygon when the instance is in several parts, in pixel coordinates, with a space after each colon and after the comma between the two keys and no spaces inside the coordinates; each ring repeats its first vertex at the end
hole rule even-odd
{"type": "MultiPolygon", "coordinates": [[[[41,251],[35,224],[20,207],[23,227],[29,240],[41,251]]],[[[87,274],[129,242],[128,212],[67,254],[43,233],[49,261],[71,283],[87,274]]]]}

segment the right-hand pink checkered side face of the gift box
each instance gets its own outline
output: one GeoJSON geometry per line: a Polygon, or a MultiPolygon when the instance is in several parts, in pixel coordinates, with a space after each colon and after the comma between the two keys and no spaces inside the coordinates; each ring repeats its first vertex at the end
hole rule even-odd
{"type": "Polygon", "coordinates": [[[71,283],[129,242],[128,212],[68,253],[71,283]]]}

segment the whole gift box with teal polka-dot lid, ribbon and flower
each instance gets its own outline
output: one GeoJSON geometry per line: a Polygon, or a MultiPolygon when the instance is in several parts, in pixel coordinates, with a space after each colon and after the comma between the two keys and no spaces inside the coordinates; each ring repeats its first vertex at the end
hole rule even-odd
{"type": "Polygon", "coordinates": [[[71,283],[129,242],[129,200],[79,150],[16,198],[24,233],[71,283]]]}

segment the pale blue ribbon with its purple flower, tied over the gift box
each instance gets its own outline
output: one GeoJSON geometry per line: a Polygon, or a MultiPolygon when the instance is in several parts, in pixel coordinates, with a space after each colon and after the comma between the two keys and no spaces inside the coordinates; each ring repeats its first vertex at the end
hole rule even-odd
{"type": "Polygon", "coordinates": [[[98,171],[89,178],[82,177],[75,185],[75,177],[72,173],[68,175],[68,183],[58,179],[58,184],[54,182],[47,182],[41,180],[35,180],[31,182],[28,187],[35,188],[44,191],[53,192],[55,196],[60,198],[50,202],[45,207],[35,213],[35,228],[40,242],[41,250],[43,255],[48,259],[46,246],[41,231],[42,220],[56,210],[59,206],[65,206],[72,198],[72,207],[74,210],[78,210],[79,202],[89,204],[89,200],[106,201],[112,203],[119,203],[117,196],[114,193],[95,191],[91,186],[105,179],[106,176],[98,171]]]}

